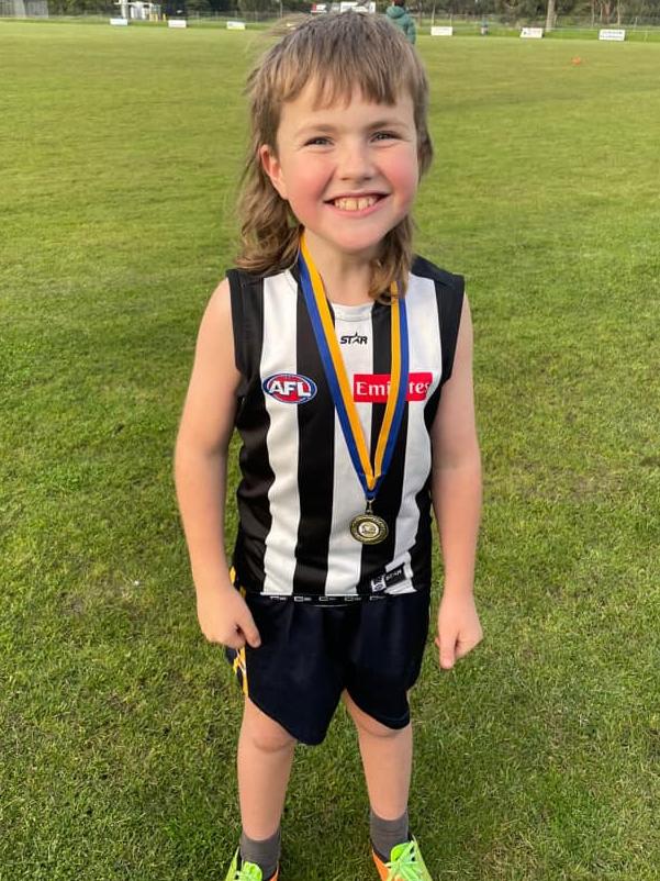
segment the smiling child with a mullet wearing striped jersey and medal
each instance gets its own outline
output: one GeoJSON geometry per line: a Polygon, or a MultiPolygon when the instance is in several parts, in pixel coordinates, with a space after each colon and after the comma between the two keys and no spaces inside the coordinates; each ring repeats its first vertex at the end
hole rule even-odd
{"type": "Polygon", "coordinates": [[[243,833],[227,881],[278,878],[294,746],[323,740],[340,699],[378,876],[430,879],[409,829],[407,692],[428,628],[432,505],[441,667],[481,628],[470,314],[460,276],[412,256],[427,90],[404,35],[355,13],[290,30],[248,81],[243,253],[204,314],[176,454],[201,629],[226,647],[245,693],[243,833]]]}

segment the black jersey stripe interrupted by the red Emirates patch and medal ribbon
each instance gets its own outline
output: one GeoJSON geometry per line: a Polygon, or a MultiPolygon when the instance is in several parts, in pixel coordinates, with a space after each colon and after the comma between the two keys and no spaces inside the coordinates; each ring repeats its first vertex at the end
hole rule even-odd
{"type": "MultiPolygon", "coordinates": [[[[371,313],[372,339],[373,339],[373,373],[391,373],[392,369],[392,310],[389,305],[376,303],[371,313]]],[[[376,456],[378,435],[385,414],[384,403],[373,403],[371,405],[371,461],[376,456]]],[[[383,517],[390,532],[384,542],[379,545],[365,545],[360,565],[359,590],[368,589],[371,578],[380,575],[388,562],[394,557],[396,542],[396,517],[401,508],[401,495],[403,491],[403,471],[405,467],[405,446],[407,439],[407,403],[403,412],[403,420],[394,455],[390,465],[390,470],[380,484],[378,495],[373,502],[373,513],[383,517]]]]}

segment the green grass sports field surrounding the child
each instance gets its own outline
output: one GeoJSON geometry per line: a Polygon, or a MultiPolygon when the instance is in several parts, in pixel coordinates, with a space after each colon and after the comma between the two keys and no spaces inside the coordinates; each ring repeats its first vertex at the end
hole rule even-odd
{"type": "MultiPolygon", "coordinates": [[[[217,881],[235,846],[240,699],[170,470],[261,45],[0,22],[2,881],[217,881]]],[[[476,324],[485,640],[450,674],[427,654],[414,828],[439,881],[655,881],[660,46],[420,51],[418,249],[476,324]]],[[[373,877],[359,779],[342,711],[297,759],[286,881],[373,877]]]]}

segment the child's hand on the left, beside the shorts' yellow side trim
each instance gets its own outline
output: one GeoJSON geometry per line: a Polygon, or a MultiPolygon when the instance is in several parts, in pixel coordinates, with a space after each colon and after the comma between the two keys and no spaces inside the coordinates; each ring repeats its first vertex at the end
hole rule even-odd
{"type": "Polygon", "coordinates": [[[199,591],[197,616],[210,643],[221,643],[227,648],[243,648],[246,643],[253,648],[261,645],[247,603],[232,587],[199,591]]]}

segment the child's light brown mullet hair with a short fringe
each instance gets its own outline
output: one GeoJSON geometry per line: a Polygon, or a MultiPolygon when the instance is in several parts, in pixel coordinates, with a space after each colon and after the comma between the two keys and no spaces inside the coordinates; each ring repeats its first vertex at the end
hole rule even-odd
{"type": "MultiPolygon", "coordinates": [[[[398,27],[382,15],[355,12],[294,24],[247,80],[251,133],[238,203],[237,265],[258,275],[287,269],[298,255],[300,224],[265,172],[259,150],[268,145],[277,154],[282,105],[294,101],[310,82],[317,85],[320,107],[349,101],[356,88],[379,104],[394,104],[407,92],[414,105],[420,176],[433,158],[426,124],[428,81],[415,49],[398,27]]],[[[413,222],[405,216],[382,241],[372,265],[371,297],[379,299],[393,281],[405,290],[412,259],[413,222]]]]}

